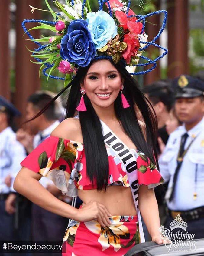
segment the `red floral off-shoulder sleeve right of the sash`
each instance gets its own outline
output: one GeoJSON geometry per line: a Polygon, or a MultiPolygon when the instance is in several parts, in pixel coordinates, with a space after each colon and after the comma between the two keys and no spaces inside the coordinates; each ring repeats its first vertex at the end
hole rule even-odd
{"type": "Polygon", "coordinates": [[[147,185],[148,188],[156,187],[164,182],[163,177],[157,170],[154,163],[150,161],[142,152],[137,152],[138,183],[147,185]]]}

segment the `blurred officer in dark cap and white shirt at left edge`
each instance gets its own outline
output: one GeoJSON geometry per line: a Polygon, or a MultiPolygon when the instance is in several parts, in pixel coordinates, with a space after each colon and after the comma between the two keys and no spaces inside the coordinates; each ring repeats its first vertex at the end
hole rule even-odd
{"type": "MultiPolygon", "coordinates": [[[[21,113],[13,104],[0,96],[0,240],[2,241],[20,240],[15,228],[15,224],[19,223],[15,222],[18,209],[14,205],[17,193],[13,189],[13,182],[21,168],[20,162],[26,157],[26,152],[21,143],[16,140],[16,135],[10,126],[13,117],[20,115],[21,113]],[[7,200],[12,201],[13,204],[7,204],[7,200]]],[[[26,216],[24,216],[25,222],[26,216]]],[[[25,229],[24,227],[21,233],[24,234],[25,229]]]]}

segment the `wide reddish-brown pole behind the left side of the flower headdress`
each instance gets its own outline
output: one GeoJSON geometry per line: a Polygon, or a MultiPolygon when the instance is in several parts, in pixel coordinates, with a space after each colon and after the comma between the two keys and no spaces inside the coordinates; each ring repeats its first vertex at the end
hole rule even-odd
{"type": "MultiPolygon", "coordinates": [[[[30,52],[26,49],[25,45],[29,49],[38,48],[37,45],[33,42],[29,42],[25,40],[28,38],[27,35],[23,34],[24,31],[21,26],[21,22],[24,19],[39,19],[40,12],[34,11],[31,13],[31,8],[29,5],[34,6],[35,8],[40,8],[40,0],[24,0],[24,1],[16,1],[16,59],[15,59],[15,96],[14,103],[15,106],[21,111],[22,116],[25,115],[25,109],[27,104],[27,98],[30,94],[34,93],[37,89],[40,89],[40,79],[38,77],[38,71],[40,66],[35,65],[30,62],[32,57],[30,56],[30,52]]],[[[33,23],[32,25],[36,26],[38,23],[33,23]]],[[[26,27],[30,28],[31,25],[27,23],[26,27]]],[[[34,30],[31,31],[31,35],[34,38],[40,37],[40,31],[34,30]]],[[[22,120],[21,120],[22,121],[22,120]]]]}

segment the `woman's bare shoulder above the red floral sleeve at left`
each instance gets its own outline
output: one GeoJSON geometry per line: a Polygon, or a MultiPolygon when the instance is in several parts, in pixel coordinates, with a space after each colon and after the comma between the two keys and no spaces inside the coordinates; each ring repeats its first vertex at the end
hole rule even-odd
{"type": "Polygon", "coordinates": [[[63,120],[51,133],[51,136],[83,143],[80,121],[69,117],[63,120]]]}

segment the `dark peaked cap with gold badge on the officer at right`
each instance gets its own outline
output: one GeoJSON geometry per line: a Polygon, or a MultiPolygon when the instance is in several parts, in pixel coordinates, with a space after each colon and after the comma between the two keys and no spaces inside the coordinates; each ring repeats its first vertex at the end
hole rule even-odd
{"type": "Polygon", "coordinates": [[[204,82],[188,75],[181,75],[173,80],[176,98],[195,98],[204,96],[204,82]]]}

